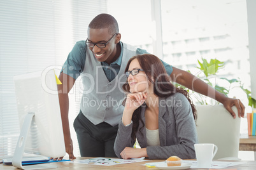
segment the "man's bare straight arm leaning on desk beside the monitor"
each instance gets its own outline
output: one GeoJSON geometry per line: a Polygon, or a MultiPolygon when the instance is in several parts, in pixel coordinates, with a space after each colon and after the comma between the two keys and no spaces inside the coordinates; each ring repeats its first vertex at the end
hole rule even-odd
{"type": "MultiPolygon", "coordinates": [[[[62,119],[62,127],[63,127],[63,134],[65,140],[65,148],[66,152],[69,154],[69,159],[76,159],[73,154],[73,142],[71,140],[70,129],[69,129],[69,120],[68,120],[68,110],[69,110],[69,98],[68,93],[71,88],[75,84],[75,79],[63,72],[59,75],[60,82],[62,84],[58,85],[58,92],[59,92],[59,103],[60,103],[60,113],[62,119]]],[[[62,157],[63,158],[63,157],[62,157]]],[[[62,160],[60,158],[59,160],[62,160]]]]}

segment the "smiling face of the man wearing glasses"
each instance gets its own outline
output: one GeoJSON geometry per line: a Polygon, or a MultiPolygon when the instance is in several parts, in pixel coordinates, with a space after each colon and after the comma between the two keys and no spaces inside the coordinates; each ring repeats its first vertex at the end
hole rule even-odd
{"type": "Polygon", "coordinates": [[[115,54],[117,51],[117,43],[119,42],[117,36],[115,34],[111,35],[106,29],[88,29],[88,39],[87,42],[92,43],[107,43],[105,48],[99,48],[98,46],[94,46],[93,48],[89,47],[89,49],[94,53],[94,56],[99,62],[107,62],[111,63],[113,58],[115,58],[115,54]],[[112,37],[112,38],[111,38],[112,37]]]}

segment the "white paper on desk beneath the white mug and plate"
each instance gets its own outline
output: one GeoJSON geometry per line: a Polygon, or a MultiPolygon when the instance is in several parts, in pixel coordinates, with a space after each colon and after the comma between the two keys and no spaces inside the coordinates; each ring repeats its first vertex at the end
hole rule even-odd
{"type": "MultiPolygon", "coordinates": [[[[197,161],[196,160],[183,160],[182,162],[185,163],[190,163],[192,164],[192,166],[190,166],[190,168],[199,168],[197,166],[197,161]]],[[[229,167],[229,166],[238,166],[240,164],[245,164],[245,162],[224,162],[224,161],[213,161],[211,163],[210,167],[200,167],[200,168],[204,168],[204,169],[223,169],[225,167],[229,167]]]]}

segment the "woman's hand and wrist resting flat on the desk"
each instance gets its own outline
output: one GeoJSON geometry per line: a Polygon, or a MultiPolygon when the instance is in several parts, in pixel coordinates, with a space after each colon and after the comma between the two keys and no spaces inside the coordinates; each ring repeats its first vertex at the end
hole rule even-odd
{"type": "Polygon", "coordinates": [[[148,157],[148,154],[146,154],[146,148],[125,147],[120,155],[123,159],[148,157]]]}

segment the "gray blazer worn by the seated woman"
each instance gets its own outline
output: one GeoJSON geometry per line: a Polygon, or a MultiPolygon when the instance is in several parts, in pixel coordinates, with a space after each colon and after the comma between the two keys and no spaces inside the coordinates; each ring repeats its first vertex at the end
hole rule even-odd
{"type": "MultiPolygon", "coordinates": [[[[142,105],[141,119],[145,123],[146,105],[142,105]]],[[[195,159],[194,143],[197,143],[196,123],[191,106],[187,98],[181,93],[175,93],[167,98],[159,98],[159,139],[160,146],[148,147],[146,143],[146,128],[139,124],[136,138],[141,148],[146,148],[149,159],[167,159],[176,155],[181,159],[195,159]]],[[[131,138],[132,124],[124,126],[119,122],[117,138],[115,139],[115,154],[125,147],[132,147],[135,143],[131,138]]]]}

